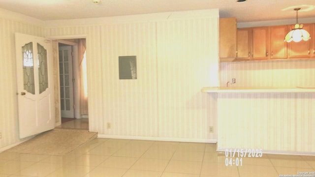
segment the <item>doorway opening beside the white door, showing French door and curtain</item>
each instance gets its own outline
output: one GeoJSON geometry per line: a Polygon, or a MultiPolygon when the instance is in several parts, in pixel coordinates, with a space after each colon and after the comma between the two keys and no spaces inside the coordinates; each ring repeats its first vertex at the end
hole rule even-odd
{"type": "Polygon", "coordinates": [[[59,119],[56,128],[89,129],[85,41],[56,40],[60,103],[60,118],[56,118],[59,119]]]}

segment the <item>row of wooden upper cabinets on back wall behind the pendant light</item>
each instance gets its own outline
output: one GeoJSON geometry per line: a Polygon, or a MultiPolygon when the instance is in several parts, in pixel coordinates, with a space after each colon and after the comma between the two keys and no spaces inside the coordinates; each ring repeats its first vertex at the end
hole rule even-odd
{"type": "Polygon", "coordinates": [[[291,25],[239,28],[236,32],[236,60],[315,59],[315,24],[304,24],[308,41],[289,43],[284,36],[291,25]]]}

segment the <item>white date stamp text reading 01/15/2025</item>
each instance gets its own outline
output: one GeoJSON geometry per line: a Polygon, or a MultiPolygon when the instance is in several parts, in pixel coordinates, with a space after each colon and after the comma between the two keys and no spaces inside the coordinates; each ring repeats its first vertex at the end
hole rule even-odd
{"type": "Polygon", "coordinates": [[[262,149],[225,149],[225,157],[262,157],[262,149]]]}

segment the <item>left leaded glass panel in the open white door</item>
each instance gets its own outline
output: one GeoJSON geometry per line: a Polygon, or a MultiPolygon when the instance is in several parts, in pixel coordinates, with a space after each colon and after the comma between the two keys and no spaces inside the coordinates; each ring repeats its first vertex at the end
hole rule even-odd
{"type": "Polygon", "coordinates": [[[32,42],[25,44],[25,46],[22,47],[22,58],[24,89],[32,94],[35,94],[32,42]]]}

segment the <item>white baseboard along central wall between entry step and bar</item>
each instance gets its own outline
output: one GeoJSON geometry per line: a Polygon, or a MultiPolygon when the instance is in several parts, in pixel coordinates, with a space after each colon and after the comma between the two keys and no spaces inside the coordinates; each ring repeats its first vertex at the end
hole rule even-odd
{"type": "Polygon", "coordinates": [[[172,141],[172,142],[191,142],[191,143],[217,143],[217,139],[165,138],[165,137],[123,136],[123,135],[106,135],[106,134],[98,134],[97,138],[128,139],[128,140],[149,140],[149,141],[172,141]]]}

